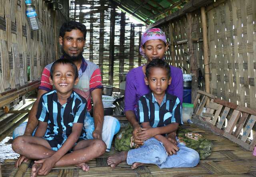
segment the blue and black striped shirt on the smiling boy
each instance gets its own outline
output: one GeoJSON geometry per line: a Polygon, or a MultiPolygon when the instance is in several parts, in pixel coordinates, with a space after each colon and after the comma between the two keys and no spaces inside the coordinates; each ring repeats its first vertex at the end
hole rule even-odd
{"type": "MultiPolygon", "coordinates": [[[[39,101],[36,117],[39,121],[48,122],[46,139],[51,147],[60,148],[72,132],[73,123],[82,123],[86,117],[87,101],[72,91],[64,105],[58,102],[57,91],[44,93],[39,101]]],[[[86,139],[84,126],[79,139],[86,139]]]]}

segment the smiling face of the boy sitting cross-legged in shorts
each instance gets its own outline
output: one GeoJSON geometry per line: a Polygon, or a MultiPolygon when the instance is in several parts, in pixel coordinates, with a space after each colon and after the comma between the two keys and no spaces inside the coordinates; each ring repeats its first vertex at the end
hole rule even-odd
{"type": "Polygon", "coordinates": [[[54,85],[57,92],[68,94],[72,92],[74,85],[78,83],[78,78],[75,80],[74,69],[70,64],[56,64],[50,83],[54,85]]]}

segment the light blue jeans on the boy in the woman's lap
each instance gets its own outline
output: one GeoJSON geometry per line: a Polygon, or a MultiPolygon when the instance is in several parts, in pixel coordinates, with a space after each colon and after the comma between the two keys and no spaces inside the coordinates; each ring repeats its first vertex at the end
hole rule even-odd
{"type": "Polygon", "coordinates": [[[151,163],[160,168],[194,167],[199,163],[198,152],[183,143],[178,143],[177,146],[179,147],[177,154],[168,156],[162,142],[150,138],[141,147],[128,151],[126,161],[128,165],[135,162],[151,163]]]}

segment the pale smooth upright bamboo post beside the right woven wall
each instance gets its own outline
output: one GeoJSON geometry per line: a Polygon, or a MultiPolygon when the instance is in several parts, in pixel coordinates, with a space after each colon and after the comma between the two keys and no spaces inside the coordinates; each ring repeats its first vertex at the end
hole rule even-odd
{"type": "MultiPolygon", "coordinates": [[[[208,59],[208,38],[207,38],[207,26],[206,26],[206,14],[205,7],[201,7],[201,18],[203,27],[203,44],[204,44],[204,79],[205,79],[205,91],[210,93],[210,70],[208,59]]],[[[208,99],[209,101],[209,99],[208,99]]]]}

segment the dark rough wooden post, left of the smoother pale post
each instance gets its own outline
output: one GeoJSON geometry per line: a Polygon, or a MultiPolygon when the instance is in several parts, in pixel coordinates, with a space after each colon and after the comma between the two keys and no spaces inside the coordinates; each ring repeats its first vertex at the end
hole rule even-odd
{"type": "Polygon", "coordinates": [[[198,66],[197,66],[197,60],[194,57],[194,48],[193,48],[193,42],[192,42],[192,14],[187,13],[187,35],[188,35],[188,53],[189,53],[189,60],[191,64],[191,74],[192,74],[192,102],[196,98],[197,90],[198,90],[198,66]]]}

